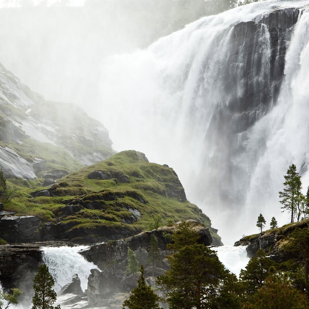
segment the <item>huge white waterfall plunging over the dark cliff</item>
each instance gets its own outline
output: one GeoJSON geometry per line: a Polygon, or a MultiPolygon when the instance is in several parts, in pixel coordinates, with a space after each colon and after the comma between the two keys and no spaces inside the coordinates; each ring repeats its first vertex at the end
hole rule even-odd
{"type": "Polygon", "coordinates": [[[260,213],[288,221],[278,191],[291,163],[309,185],[308,7],[252,3],[102,63],[114,148],[173,167],[225,243],[256,233],[260,213]]]}

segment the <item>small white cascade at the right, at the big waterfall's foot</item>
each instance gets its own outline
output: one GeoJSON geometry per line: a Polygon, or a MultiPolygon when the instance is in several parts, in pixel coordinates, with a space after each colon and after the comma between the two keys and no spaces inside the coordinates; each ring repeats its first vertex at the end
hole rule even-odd
{"type": "Polygon", "coordinates": [[[218,258],[225,268],[239,277],[240,270],[244,269],[250,260],[246,248],[246,246],[222,246],[212,250],[217,251],[218,258]]]}

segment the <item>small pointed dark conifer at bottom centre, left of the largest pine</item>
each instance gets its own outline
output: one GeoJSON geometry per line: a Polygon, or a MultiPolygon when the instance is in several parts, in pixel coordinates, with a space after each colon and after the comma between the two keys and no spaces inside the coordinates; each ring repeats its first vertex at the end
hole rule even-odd
{"type": "Polygon", "coordinates": [[[141,265],[140,271],[141,276],[138,279],[138,286],[131,292],[132,295],[123,302],[122,308],[160,309],[158,304],[159,296],[145,283],[143,265],[141,265]]]}

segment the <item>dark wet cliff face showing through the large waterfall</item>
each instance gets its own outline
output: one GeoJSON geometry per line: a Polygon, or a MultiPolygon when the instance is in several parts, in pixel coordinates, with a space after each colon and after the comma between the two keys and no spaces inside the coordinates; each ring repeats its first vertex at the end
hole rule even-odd
{"type": "Polygon", "coordinates": [[[244,165],[248,132],[277,103],[299,13],[298,8],[277,9],[226,30],[225,58],[217,80],[221,95],[214,102],[216,110],[204,140],[205,153],[215,155],[210,160],[206,157],[201,169],[210,171],[206,182],[210,191],[218,190],[221,203],[238,205],[245,199],[243,186],[250,182],[250,165],[254,166],[265,147],[264,136],[260,136],[259,152],[251,154],[244,165]]]}

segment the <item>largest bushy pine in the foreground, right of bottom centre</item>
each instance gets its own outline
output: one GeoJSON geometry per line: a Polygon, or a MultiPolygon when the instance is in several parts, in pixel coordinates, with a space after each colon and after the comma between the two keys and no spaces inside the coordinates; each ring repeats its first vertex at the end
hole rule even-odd
{"type": "Polygon", "coordinates": [[[198,239],[198,233],[187,223],[173,234],[170,247],[177,251],[167,256],[170,269],[157,279],[157,284],[167,292],[170,308],[212,307],[222,288],[226,270],[215,252],[198,244],[198,239]]]}

